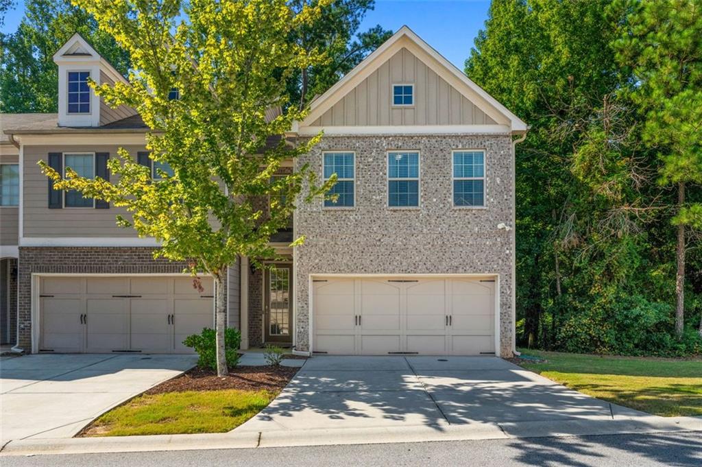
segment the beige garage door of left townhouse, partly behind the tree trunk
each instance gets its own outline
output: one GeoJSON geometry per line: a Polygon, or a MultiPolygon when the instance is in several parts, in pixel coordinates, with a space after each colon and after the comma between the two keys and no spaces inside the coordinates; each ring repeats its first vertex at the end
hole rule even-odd
{"type": "Polygon", "coordinates": [[[183,340],[213,326],[213,282],[183,277],[41,277],[39,350],[190,353],[183,340]]]}

